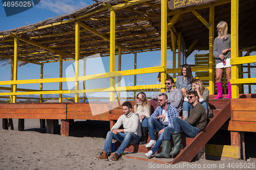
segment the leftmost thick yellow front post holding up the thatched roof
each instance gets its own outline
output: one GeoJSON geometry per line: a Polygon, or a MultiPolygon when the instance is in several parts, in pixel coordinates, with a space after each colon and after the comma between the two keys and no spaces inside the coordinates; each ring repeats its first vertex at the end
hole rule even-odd
{"type": "MultiPolygon", "coordinates": [[[[18,38],[14,38],[14,56],[13,56],[13,80],[17,80],[18,69],[18,38]]],[[[17,92],[17,85],[13,84],[12,92],[17,92]]],[[[16,103],[16,95],[12,96],[12,103],[16,103]]]]}

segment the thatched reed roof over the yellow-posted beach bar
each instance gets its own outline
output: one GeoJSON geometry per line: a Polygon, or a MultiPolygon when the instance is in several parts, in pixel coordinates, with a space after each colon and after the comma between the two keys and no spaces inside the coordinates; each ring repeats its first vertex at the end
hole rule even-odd
{"type": "MultiPolygon", "coordinates": [[[[224,2],[222,5],[215,6],[215,27],[220,20],[225,20],[230,28],[230,1],[222,2],[224,2]]],[[[109,6],[122,3],[124,3],[124,1],[102,0],[71,14],[46,19],[33,25],[19,27],[13,30],[2,31],[0,32],[0,56],[13,56],[14,38],[9,36],[10,33],[12,33],[16,34],[17,37],[36,42],[55,50],[55,52],[45,50],[44,48],[19,40],[19,59],[42,63],[58,61],[60,54],[58,52],[64,54],[63,59],[72,59],[72,56],[75,55],[75,20],[78,19],[80,22],[93,28],[102,35],[110,37],[110,12],[108,8],[109,6]]],[[[116,41],[137,53],[160,50],[160,6],[161,1],[157,0],[147,1],[146,3],[140,3],[117,10],[116,41]]],[[[255,7],[256,3],[254,0],[239,2],[240,47],[251,47],[255,45],[255,7]]],[[[208,20],[209,8],[207,8],[207,6],[202,6],[202,8],[197,7],[196,11],[208,20]]],[[[167,19],[172,19],[175,11],[171,11],[167,8],[167,12],[167,19]]],[[[172,27],[172,31],[176,36],[178,36],[178,32],[181,32],[187,48],[196,39],[199,39],[194,49],[208,50],[208,29],[193,13],[186,12],[174,27],[172,27]]],[[[215,36],[216,35],[217,32],[215,36]]],[[[167,33],[167,47],[172,48],[170,32],[167,33]]],[[[110,53],[109,48],[109,41],[80,27],[81,58],[96,53],[100,53],[101,56],[108,56],[110,53]]],[[[118,49],[116,49],[116,53],[118,53],[118,49]]],[[[122,51],[122,53],[126,54],[130,52],[122,51]]],[[[0,57],[0,62],[2,65],[9,64],[10,60],[5,57],[0,57]]],[[[24,64],[27,63],[19,62],[19,65],[24,64]]]]}

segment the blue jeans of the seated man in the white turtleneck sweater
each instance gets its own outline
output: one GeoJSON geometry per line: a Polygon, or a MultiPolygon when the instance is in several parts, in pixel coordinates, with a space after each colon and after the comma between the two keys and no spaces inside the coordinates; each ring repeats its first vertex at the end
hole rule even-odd
{"type": "Polygon", "coordinates": [[[122,142],[120,147],[116,151],[116,153],[118,153],[119,155],[123,153],[128,144],[138,144],[140,142],[140,137],[132,132],[114,134],[112,131],[109,131],[106,135],[105,145],[103,149],[103,151],[105,151],[108,155],[110,152],[112,139],[122,142]]]}

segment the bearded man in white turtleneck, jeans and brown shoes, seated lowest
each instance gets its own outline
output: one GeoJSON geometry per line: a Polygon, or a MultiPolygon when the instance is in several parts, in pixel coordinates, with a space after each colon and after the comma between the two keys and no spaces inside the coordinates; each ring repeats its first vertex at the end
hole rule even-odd
{"type": "Polygon", "coordinates": [[[94,157],[94,159],[108,159],[113,139],[122,143],[110,161],[117,161],[128,144],[138,144],[140,142],[141,125],[139,117],[132,112],[132,104],[130,102],[124,102],[122,105],[123,115],[118,118],[117,123],[106,135],[103,152],[100,156],[94,157]],[[119,129],[121,125],[123,125],[124,129],[119,129]]]}

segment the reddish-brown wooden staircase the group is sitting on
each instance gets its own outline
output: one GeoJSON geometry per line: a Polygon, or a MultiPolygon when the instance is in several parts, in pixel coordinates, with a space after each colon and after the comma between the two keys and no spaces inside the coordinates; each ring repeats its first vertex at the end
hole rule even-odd
{"type": "MultiPolygon", "coordinates": [[[[204,131],[200,132],[195,138],[182,138],[182,144],[184,149],[180,151],[179,154],[175,155],[174,159],[170,164],[175,164],[181,161],[190,162],[204,147],[204,145],[210,140],[212,136],[224,125],[224,123],[230,117],[230,99],[212,99],[209,102],[209,106],[214,114],[213,118],[210,118],[207,122],[207,126],[204,131]]],[[[149,141],[150,139],[148,139],[149,141]]],[[[171,139],[172,140],[172,139],[171,139]]],[[[115,150],[119,147],[120,142],[115,143],[115,150]]],[[[172,141],[173,145],[173,141],[172,141]]],[[[125,152],[143,152],[146,153],[150,151],[151,148],[146,148],[144,145],[129,144],[125,149],[125,152]]],[[[161,147],[158,153],[161,152],[161,147]]],[[[131,158],[131,157],[130,157],[131,158]]],[[[136,158],[134,158],[136,159],[136,158]]],[[[147,158],[145,160],[148,161],[147,158]]],[[[159,163],[161,163],[159,159],[159,163]]]]}

